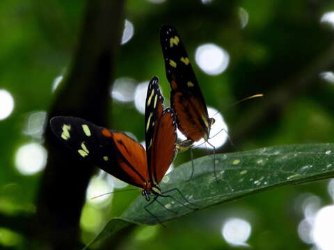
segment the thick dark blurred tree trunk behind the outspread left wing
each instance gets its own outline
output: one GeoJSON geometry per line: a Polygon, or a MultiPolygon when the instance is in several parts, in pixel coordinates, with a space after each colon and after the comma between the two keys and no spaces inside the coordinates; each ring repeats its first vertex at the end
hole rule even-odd
{"type": "MultiPolygon", "coordinates": [[[[120,46],[124,1],[88,0],[77,52],[49,117],[72,115],[105,126],[115,55],[120,46]]],[[[48,163],[31,229],[33,249],[77,249],[79,219],[94,169],[45,133],[48,163]],[[69,195],[71,194],[71,195],[69,195]]]]}

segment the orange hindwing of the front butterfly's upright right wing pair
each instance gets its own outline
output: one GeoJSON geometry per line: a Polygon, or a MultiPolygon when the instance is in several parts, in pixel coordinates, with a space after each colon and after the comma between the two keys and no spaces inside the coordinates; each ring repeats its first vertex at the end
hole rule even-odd
{"type": "Polygon", "coordinates": [[[166,108],[154,129],[152,155],[149,160],[153,183],[157,184],[161,181],[172,163],[175,157],[176,140],[175,114],[172,109],[166,108]]]}

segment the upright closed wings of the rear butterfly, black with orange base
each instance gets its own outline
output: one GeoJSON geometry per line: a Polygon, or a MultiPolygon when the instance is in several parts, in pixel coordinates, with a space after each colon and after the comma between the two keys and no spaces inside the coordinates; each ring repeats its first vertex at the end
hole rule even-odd
{"type": "Polygon", "coordinates": [[[210,119],[184,44],[170,25],[161,27],[160,43],[166,76],[172,88],[170,105],[177,115],[177,126],[187,138],[200,140],[209,133],[210,119]]]}

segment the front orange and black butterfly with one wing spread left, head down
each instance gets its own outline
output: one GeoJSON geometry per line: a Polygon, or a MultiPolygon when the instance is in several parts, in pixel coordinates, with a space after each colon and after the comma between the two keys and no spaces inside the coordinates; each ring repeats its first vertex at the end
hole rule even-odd
{"type": "MultiPolygon", "coordinates": [[[[145,206],[148,213],[148,206],[158,197],[174,199],[166,192],[177,190],[162,192],[159,188],[161,179],[175,157],[177,135],[175,115],[170,108],[164,110],[164,97],[158,83],[158,78],[153,77],[148,86],[145,103],[146,151],[125,133],[97,126],[81,118],[54,117],[50,121],[54,134],[81,158],[90,160],[126,183],[142,188],[146,200],[150,201],[150,195],[153,194],[154,199],[145,206]]],[[[152,216],[159,221],[156,216],[152,216]]]]}

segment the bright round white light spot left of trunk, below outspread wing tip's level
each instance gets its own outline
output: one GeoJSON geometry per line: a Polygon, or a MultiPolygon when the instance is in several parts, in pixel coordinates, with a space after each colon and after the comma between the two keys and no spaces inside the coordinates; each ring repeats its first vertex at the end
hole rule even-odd
{"type": "Polygon", "coordinates": [[[40,172],[46,163],[47,150],[35,142],[19,147],[15,155],[15,167],[24,175],[40,172]]]}

